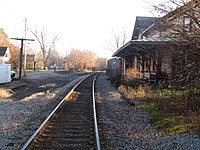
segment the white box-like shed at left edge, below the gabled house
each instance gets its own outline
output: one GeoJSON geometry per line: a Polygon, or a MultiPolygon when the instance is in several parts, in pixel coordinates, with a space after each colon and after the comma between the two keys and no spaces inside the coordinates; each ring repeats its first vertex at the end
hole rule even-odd
{"type": "Polygon", "coordinates": [[[11,64],[0,64],[0,84],[11,82],[11,64]]]}

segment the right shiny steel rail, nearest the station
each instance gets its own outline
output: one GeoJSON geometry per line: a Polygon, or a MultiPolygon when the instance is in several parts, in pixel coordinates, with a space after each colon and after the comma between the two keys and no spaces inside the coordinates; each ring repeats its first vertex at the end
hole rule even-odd
{"type": "Polygon", "coordinates": [[[99,73],[94,77],[94,80],[93,80],[93,85],[92,85],[92,97],[93,97],[92,99],[93,100],[92,101],[93,101],[93,115],[94,115],[94,127],[95,127],[97,150],[101,150],[98,125],[97,125],[96,105],[95,105],[95,81],[98,75],[99,73]]]}

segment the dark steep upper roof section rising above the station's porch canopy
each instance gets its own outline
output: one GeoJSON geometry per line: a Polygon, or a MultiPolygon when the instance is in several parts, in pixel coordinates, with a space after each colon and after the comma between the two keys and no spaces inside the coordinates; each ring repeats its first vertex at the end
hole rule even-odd
{"type": "Polygon", "coordinates": [[[141,17],[137,16],[135,26],[133,29],[132,40],[139,38],[139,34],[152,25],[158,18],[157,17],[141,17]]]}

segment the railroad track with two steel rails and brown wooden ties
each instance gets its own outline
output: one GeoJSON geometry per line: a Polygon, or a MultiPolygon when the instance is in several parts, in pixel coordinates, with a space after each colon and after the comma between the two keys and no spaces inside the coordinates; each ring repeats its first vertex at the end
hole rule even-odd
{"type": "Polygon", "coordinates": [[[94,99],[94,85],[97,75],[94,73],[80,81],[23,145],[21,150],[100,150],[94,99]]]}

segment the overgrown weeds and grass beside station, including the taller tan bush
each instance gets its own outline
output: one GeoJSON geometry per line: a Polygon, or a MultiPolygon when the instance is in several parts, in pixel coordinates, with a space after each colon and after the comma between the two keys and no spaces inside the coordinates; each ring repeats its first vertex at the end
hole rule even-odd
{"type": "Polygon", "coordinates": [[[200,87],[193,89],[159,89],[144,85],[135,70],[127,70],[119,91],[127,99],[139,101],[137,108],[145,109],[152,117],[152,125],[164,132],[200,133],[200,87]]]}

